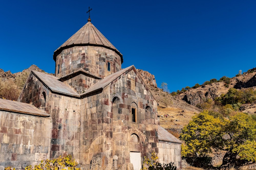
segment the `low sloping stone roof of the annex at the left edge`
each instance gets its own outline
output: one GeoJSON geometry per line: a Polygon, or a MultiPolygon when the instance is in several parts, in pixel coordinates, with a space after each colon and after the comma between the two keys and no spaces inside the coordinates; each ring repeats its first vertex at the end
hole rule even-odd
{"type": "Polygon", "coordinates": [[[22,103],[18,101],[0,99],[0,110],[7,112],[18,112],[23,114],[30,114],[35,116],[48,117],[49,114],[32,106],[31,104],[22,103]]]}

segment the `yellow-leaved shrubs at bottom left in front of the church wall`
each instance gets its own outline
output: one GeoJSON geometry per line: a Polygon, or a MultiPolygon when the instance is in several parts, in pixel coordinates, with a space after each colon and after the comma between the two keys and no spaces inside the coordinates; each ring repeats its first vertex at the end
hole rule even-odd
{"type": "MultiPolygon", "coordinates": [[[[34,168],[28,165],[25,170],[66,170],[66,168],[68,170],[81,170],[81,168],[76,166],[77,162],[71,155],[63,155],[56,159],[41,161],[41,164],[35,165],[34,168]]],[[[5,170],[15,170],[15,168],[6,167],[5,170]]]]}

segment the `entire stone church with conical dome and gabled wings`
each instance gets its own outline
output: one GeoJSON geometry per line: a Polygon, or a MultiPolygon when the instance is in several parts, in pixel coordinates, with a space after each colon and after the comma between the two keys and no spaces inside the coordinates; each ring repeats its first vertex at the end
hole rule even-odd
{"type": "Polygon", "coordinates": [[[90,21],[54,51],[55,76],[31,71],[18,101],[0,99],[0,169],[71,154],[83,169],[139,170],[153,151],[181,168],[155,97],[90,21]]]}

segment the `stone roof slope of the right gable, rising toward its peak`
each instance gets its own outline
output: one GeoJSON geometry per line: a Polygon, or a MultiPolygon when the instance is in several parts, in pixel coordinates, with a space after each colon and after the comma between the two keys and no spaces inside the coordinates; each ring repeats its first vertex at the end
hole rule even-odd
{"type": "Polygon", "coordinates": [[[90,93],[92,93],[94,91],[98,91],[100,89],[103,89],[104,87],[109,85],[111,82],[113,82],[115,79],[117,79],[119,76],[121,76],[123,73],[125,73],[126,71],[131,69],[132,67],[134,67],[134,66],[132,65],[130,67],[127,67],[125,69],[122,69],[118,72],[115,72],[113,74],[106,76],[104,79],[102,79],[101,81],[99,81],[98,83],[96,83],[92,87],[90,87],[88,90],[86,90],[83,94],[81,94],[81,96],[90,94],[90,93]]]}

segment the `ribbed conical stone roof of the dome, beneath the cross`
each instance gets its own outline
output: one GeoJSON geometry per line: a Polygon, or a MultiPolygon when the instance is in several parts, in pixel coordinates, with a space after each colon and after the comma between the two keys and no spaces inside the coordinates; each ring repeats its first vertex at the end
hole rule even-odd
{"type": "Polygon", "coordinates": [[[104,35],[89,21],[74,35],[72,35],[65,43],[63,43],[57,50],[54,51],[54,60],[56,56],[66,48],[76,45],[95,45],[104,46],[106,48],[114,50],[118,55],[121,56],[123,62],[123,55],[118,51],[104,35]]]}

